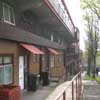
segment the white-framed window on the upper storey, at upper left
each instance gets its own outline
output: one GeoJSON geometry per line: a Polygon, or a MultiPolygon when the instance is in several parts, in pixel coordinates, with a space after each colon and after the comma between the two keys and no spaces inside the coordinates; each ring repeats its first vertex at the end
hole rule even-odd
{"type": "Polygon", "coordinates": [[[14,9],[13,9],[13,7],[11,7],[11,6],[9,6],[8,4],[6,4],[6,3],[3,3],[3,20],[4,20],[4,22],[5,23],[8,23],[8,24],[11,24],[11,25],[15,25],[15,15],[14,15],[14,9]],[[9,21],[7,21],[6,19],[5,19],[5,12],[4,12],[4,5],[6,5],[7,7],[8,7],[8,11],[9,11],[9,21]],[[10,9],[12,9],[12,13],[13,13],[13,21],[14,21],[14,23],[12,23],[11,22],[11,15],[10,15],[10,9]]]}

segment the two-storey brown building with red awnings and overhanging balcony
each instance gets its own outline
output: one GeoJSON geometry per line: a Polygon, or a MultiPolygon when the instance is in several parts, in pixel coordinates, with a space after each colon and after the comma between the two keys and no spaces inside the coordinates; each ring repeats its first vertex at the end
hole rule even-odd
{"type": "Polygon", "coordinates": [[[79,31],[64,0],[0,0],[0,84],[27,89],[29,74],[43,80],[45,72],[67,79],[79,62],[79,31]]]}

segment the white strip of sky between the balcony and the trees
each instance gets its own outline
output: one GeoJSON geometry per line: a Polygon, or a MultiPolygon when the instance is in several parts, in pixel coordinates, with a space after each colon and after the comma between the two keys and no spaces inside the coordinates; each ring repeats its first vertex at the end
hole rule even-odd
{"type": "Polygon", "coordinates": [[[76,27],[80,31],[80,49],[85,50],[86,34],[84,31],[84,22],[82,19],[82,10],[80,9],[80,0],[65,0],[68,10],[70,12],[71,18],[76,27]]]}

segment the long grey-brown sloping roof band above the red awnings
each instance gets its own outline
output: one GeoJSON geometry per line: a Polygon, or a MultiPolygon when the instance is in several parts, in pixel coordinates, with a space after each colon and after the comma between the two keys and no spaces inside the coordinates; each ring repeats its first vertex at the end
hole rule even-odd
{"type": "Polygon", "coordinates": [[[0,39],[12,40],[19,43],[27,43],[55,49],[64,49],[64,46],[59,45],[58,43],[52,42],[28,31],[2,22],[0,22],[0,39]]]}

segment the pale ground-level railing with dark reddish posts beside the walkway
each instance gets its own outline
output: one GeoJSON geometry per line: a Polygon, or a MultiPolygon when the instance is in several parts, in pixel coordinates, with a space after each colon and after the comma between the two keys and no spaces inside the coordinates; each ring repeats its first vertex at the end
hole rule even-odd
{"type": "Polygon", "coordinates": [[[79,72],[71,81],[55,89],[46,100],[80,100],[82,98],[82,80],[79,72]]]}

